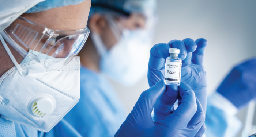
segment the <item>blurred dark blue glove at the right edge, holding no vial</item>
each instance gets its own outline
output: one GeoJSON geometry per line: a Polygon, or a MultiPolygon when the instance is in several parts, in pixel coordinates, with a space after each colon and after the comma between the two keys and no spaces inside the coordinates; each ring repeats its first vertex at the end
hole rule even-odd
{"type": "Polygon", "coordinates": [[[222,94],[238,109],[256,98],[256,58],[234,67],[217,92],[222,94]]]}

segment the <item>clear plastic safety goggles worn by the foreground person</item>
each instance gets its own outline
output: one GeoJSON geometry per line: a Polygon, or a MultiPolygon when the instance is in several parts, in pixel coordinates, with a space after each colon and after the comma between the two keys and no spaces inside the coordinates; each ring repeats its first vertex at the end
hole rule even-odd
{"type": "Polygon", "coordinates": [[[65,66],[83,47],[89,28],[75,31],[54,31],[35,21],[19,17],[12,27],[4,30],[11,39],[9,42],[23,57],[29,53],[29,57],[39,61],[47,69],[60,69],[65,66]],[[44,59],[39,58],[44,54],[44,59]],[[64,62],[56,64],[49,61],[53,58],[64,58],[64,62]]]}

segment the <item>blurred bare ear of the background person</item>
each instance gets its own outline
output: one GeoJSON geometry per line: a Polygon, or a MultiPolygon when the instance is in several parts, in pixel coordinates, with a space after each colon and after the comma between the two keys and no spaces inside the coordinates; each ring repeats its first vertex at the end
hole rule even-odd
{"type": "Polygon", "coordinates": [[[89,28],[92,32],[101,34],[102,30],[105,30],[104,28],[107,27],[107,25],[105,17],[99,13],[95,13],[90,17],[89,28]]]}

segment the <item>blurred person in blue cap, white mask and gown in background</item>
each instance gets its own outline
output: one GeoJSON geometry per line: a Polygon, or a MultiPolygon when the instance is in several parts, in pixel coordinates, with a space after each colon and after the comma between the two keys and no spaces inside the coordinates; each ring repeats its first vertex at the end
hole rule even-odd
{"type": "Polygon", "coordinates": [[[91,1],[91,32],[78,54],[80,101],[64,117],[82,136],[114,136],[127,117],[106,76],[130,86],[146,75],[155,2],[91,1]]]}

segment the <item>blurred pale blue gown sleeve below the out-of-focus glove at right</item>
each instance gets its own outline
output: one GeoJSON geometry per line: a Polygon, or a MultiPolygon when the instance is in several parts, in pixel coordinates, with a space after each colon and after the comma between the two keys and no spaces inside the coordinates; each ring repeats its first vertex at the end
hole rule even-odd
{"type": "Polygon", "coordinates": [[[235,137],[242,127],[236,117],[238,109],[218,92],[208,97],[206,119],[206,137],[235,137]]]}

